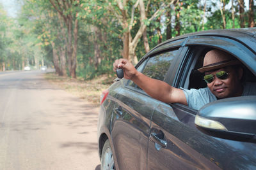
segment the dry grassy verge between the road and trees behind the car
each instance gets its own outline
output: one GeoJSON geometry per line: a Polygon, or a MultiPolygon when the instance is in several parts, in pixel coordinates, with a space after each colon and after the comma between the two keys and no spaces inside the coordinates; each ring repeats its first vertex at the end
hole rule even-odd
{"type": "Polygon", "coordinates": [[[115,77],[109,75],[101,75],[93,80],[83,80],[83,78],[70,78],[58,76],[55,73],[45,74],[45,78],[57,85],[61,89],[71,92],[72,94],[93,104],[100,103],[100,95],[103,90],[108,89],[113,83],[115,77]]]}

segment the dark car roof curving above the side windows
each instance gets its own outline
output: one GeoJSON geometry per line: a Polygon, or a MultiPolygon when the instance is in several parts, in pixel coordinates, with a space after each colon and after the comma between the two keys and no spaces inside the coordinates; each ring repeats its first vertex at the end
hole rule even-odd
{"type": "Polygon", "coordinates": [[[192,32],[192,33],[184,34],[182,36],[177,36],[175,38],[168,39],[163,43],[157,45],[155,48],[152,48],[152,50],[150,51],[153,51],[158,46],[164,45],[166,43],[170,43],[178,39],[184,39],[184,38],[189,38],[193,36],[219,36],[219,37],[235,39],[236,41],[244,43],[245,45],[255,44],[250,46],[250,48],[253,50],[254,53],[256,53],[256,27],[243,28],[243,29],[216,29],[216,30],[192,32]]]}

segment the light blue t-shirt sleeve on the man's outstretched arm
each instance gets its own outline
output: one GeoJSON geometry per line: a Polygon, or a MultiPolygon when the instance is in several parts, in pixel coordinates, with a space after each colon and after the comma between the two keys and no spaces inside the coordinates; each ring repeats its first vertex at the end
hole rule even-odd
{"type": "Polygon", "coordinates": [[[199,110],[207,103],[216,101],[216,97],[211,93],[208,88],[203,89],[183,89],[186,96],[188,106],[195,110],[199,110]]]}

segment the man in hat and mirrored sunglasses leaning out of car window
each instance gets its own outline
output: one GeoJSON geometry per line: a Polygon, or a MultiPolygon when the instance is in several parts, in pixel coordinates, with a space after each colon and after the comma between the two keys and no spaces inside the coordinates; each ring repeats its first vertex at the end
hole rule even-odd
{"type": "Polygon", "coordinates": [[[145,76],[138,72],[131,62],[125,59],[116,60],[113,69],[122,68],[124,78],[131,79],[147,94],[164,103],[185,104],[199,110],[205,104],[227,97],[256,95],[254,83],[243,84],[243,68],[229,53],[221,50],[211,50],[206,53],[204,66],[198,71],[205,73],[204,80],[207,87],[204,89],[177,89],[165,83],[145,76]]]}

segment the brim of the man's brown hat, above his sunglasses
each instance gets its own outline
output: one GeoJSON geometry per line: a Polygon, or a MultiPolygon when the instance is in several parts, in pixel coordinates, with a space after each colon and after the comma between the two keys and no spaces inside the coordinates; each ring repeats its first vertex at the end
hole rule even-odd
{"type": "Polygon", "coordinates": [[[233,66],[237,64],[241,64],[241,62],[239,62],[239,60],[221,61],[221,62],[216,62],[214,64],[209,64],[207,66],[201,67],[200,69],[198,69],[198,71],[200,71],[201,73],[204,73],[205,71],[211,71],[214,69],[220,69],[223,67],[233,66]]]}

